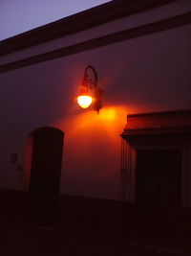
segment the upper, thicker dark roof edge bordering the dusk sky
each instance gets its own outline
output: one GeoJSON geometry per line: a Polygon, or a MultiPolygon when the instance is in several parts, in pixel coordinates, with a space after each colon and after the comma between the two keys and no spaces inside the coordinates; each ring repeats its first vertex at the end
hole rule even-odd
{"type": "Polygon", "coordinates": [[[113,0],[0,41],[0,56],[55,38],[93,28],[118,18],[157,8],[176,0],[113,0]],[[98,13],[98,14],[97,14],[98,13]]]}

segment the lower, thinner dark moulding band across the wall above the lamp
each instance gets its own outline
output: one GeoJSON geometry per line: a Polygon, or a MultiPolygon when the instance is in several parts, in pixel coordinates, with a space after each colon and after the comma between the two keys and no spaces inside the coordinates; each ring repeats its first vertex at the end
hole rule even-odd
{"type": "Polygon", "coordinates": [[[33,65],[43,61],[48,61],[54,58],[62,58],[65,56],[74,55],[80,52],[96,49],[101,46],[117,43],[123,40],[135,38],[138,36],[159,33],[161,31],[178,28],[190,23],[191,23],[191,12],[187,12],[179,16],[175,16],[175,17],[160,20],[154,23],[138,26],[133,29],[128,29],[128,30],[120,31],[114,34],[96,37],[94,39],[83,41],[67,47],[59,48],[51,52],[43,53],[43,54],[32,56],[29,58],[22,58],[20,60],[2,64],[0,65],[0,73],[9,72],[14,69],[33,65]]]}

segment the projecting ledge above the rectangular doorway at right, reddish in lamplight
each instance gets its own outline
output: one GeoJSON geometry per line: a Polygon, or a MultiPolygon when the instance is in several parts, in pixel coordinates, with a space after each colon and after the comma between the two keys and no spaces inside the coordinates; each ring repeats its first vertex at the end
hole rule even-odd
{"type": "Polygon", "coordinates": [[[121,136],[191,133],[191,109],[127,116],[121,136]]]}

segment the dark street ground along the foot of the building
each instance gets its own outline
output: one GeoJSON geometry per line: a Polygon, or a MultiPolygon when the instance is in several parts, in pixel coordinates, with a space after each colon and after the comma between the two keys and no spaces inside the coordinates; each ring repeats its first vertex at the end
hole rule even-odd
{"type": "Polygon", "coordinates": [[[53,228],[28,224],[0,224],[1,256],[189,256],[180,250],[127,239],[67,235],[53,228]]]}

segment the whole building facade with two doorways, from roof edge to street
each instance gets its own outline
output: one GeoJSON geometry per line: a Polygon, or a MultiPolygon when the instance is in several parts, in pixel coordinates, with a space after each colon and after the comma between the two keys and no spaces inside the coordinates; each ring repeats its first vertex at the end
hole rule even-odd
{"type": "Polygon", "coordinates": [[[58,200],[60,222],[126,221],[135,205],[187,215],[190,11],[116,0],[0,42],[3,218],[47,223],[58,200]],[[87,65],[104,91],[99,114],[74,102],[87,65]]]}

